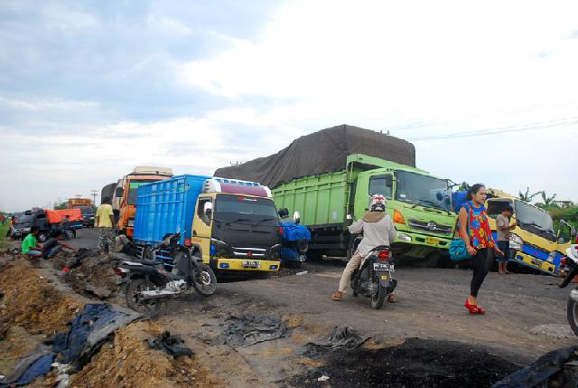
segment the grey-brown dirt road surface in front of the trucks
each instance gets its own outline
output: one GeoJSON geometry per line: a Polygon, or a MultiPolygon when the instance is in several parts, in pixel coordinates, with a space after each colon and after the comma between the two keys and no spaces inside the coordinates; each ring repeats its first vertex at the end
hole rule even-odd
{"type": "MultiPolygon", "coordinates": [[[[94,247],[94,231],[80,231],[73,243],[94,247]]],[[[318,367],[298,349],[337,325],[354,327],[381,345],[401,344],[410,337],[457,341],[470,345],[472,352],[474,347],[488,348],[489,354],[517,365],[555,348],[578,345],[565,319],[569,290],[558,289],[554,277],[490,273],[479,296],[488,313],[470,316],[462,306],[469,270],[398,268],[398,302],[381,310],[350,294],[340,302],[331,300],[342,266],[305,264],[303,270],[307,273],[221,281],[213,297],[191,295],[172,302],[155,321],[182,333],[218,374],[228,375],[236,386],[253,387],[284,385],[290,376],[318,367]],[[222,343],[223,327],[230,317],[247,312],[283,317],[291,336],[231,350],[222,343]]]]}

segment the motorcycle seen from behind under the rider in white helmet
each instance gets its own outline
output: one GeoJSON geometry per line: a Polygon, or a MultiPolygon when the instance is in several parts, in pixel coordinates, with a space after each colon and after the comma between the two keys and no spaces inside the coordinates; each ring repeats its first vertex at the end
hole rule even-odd
{"type": "Polygon", "coordinates": [[[397,280],[392,278],[394,262],[387,245],[380,245],[368,252],[359,270],[351,276],[353,296],[371,298],[371,307],[382,308],[387,296],[396,289],[397,280]]]}

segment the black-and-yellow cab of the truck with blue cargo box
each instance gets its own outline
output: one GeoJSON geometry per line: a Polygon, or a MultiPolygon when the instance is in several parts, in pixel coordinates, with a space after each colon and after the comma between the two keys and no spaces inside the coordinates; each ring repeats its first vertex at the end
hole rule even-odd
{"type": "Polygon", "coordinates": [[[281,236],[271,191],[235,179],[208,179],[196,204],[191,242],[221,271],[276,271],[281,236]]]}

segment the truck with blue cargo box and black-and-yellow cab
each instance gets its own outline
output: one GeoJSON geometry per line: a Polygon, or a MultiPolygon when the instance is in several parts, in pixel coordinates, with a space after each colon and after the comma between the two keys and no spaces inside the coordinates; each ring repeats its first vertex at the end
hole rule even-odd
{"type": "Polygon", "coordinates": [[[163,237],[176,232],[181,232],[182,245],[200,246],[213,270],[279,270],[283,231],[266,186],[201,175],[141,185],[133,239],[139,255],[172,266],[167,252],[151,255],[163,237]]]}

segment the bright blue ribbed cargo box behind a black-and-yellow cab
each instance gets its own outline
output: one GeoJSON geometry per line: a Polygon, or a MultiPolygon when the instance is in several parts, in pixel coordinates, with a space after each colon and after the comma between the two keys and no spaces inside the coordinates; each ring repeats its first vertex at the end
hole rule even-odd
{"type": "Polygon", "coordinates": [[[181,232],[181,244],[191,241],[192,219],[203,183],[210,176],[178,175],[138,187],[135,234],[140,246],[154,247],[168,233],[181,232]]]}

